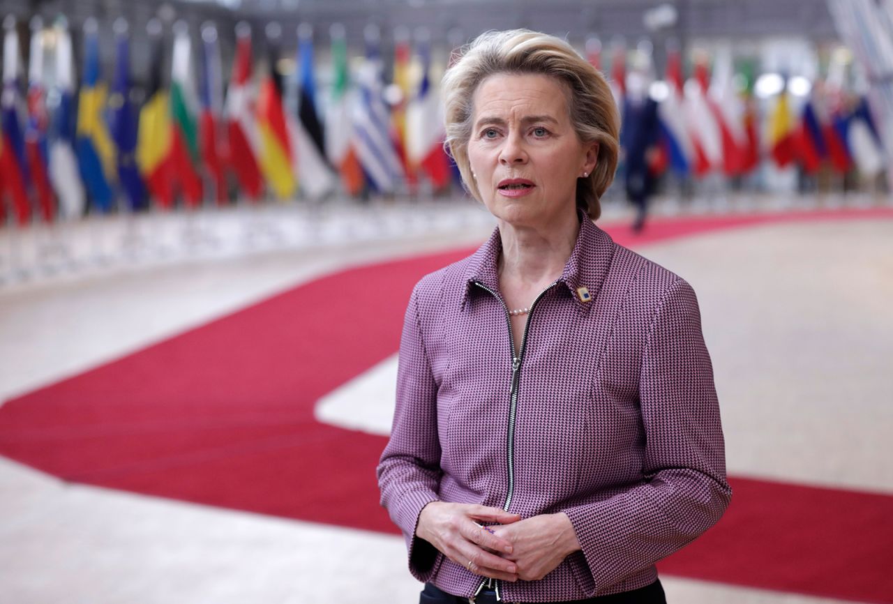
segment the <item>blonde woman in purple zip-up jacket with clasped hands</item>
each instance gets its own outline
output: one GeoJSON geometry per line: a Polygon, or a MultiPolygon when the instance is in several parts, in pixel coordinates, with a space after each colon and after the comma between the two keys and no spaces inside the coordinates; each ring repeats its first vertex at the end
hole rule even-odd
{"type": "Polygon", "coordinates": [[[381,502],[422,602],[663,602],[655,561],[730,501],[688,283],[591,219],[617,161],[605,79],[490,32],[443,81],[447,144],[497,218],[406,310],[381,502]]]}

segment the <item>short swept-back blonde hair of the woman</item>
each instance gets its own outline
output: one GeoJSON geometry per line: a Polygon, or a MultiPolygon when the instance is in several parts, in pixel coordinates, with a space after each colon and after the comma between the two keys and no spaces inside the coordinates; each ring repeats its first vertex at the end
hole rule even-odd
{"type": "Polygon", "coordinates": [[[560,37],[530,29],[488,31],[456,51],[455,62],[441,82],[444,97],[445,145],[462,173],[465,188],[480,201],[480,191],[468,161],[474,107],[480,82],[497,73],[542,74],[567,88],[568,115],[580,141],[598,143],[595,170],[577,179],[577,207],[597,219],[599,199],[611,185],[617,168],[620,118],[611,88],[596,68],[560,37]]]}

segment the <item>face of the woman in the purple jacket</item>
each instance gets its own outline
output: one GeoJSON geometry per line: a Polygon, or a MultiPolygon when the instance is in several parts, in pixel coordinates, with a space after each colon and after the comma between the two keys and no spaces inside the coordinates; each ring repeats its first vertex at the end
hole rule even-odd
{"type": "Polygon", "coordinates": [[[538,74],[496,74],[474,92],[468,159],[480,199],[513,226],[542,227],[575,211],[577,178],[596,165],[567,112],[567,90],[538,74]]]}

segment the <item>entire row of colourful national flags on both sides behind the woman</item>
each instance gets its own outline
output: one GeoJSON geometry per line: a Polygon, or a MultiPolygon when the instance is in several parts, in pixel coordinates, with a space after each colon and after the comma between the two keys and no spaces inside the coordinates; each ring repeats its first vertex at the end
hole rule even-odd
{"type": "MultiPolygon", "coordinates": [[[[256,202],[300,194],[319,199],[335,191],[413,190],[421,179],[446,189],[456,178],[443,150],[442,109],[430,79],[429,40],[422,35],[411,41],[408,33],[395,32],[390,83],[399,90],[395,101],[386,94],[378,29],[366,29],[363,61],[352,70],[345,29],[334,25],[330,87],[321,95],[313,29],[303,24],[296,51],[296,103],[288,103],[277,69],[278,24],[266,28],[258,45],[250,27],[238,24],[224,86],[212,23],[201,28],[197,47],[187,25],[175,23],[168,57],[162,24],[154,20],[148,24],[146,95],[136,106],[126,21],[114,23],[110,88],[100,68],[95,20],[84,23],[79,86],[63,18],[50,28],[39,18],[32,20],[27,90],[13,17],[6,18],[4,30],[0,221],[7,207],[25,225],[35,216],[46,221],[78,217],[88,206],[108,212],[149,204],[163,210],[178,203],[196,208],[206,200],[226,204],[232,198],[256,202]],[[253,56],[257,46],[265,56],[253,56]]],[[[590,40],[586,54],[603,69],[597,40],[590,40]]],[[[781,168],[796,164],[807,173],[827,166],[872,176],[884,169],[889,158],[864,98],[817,83],[805,102],[795,103],[782,86],[768,109],[760,111],[753,86],[736,85],[731,54],[712,59],[697,56],[686,79],[679,49],[669,47],[663,80],[656,82],[661,86],[652,82],[650,94],[643,95],[641,86],[630,84],[641,66],[628,73],[626,51],[614,48],[613,94],[624,117],[638,121],[637,128],[625,123],[622,134],[642,130],[642,113],[633,109],[643,96],[655,113],[654,132],[642,139],[656,148],[649,155],[655,175],[703,178],[720,172],[736,177],[764,159],[781,168]]],[[[628,137],[622,144],[630,146],[628,137]]]]}

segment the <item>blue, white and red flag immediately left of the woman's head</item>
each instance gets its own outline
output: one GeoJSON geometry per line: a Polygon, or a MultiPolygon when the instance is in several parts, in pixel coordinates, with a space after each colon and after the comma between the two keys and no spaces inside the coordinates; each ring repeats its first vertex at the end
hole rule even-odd
{"type": "Polygon", "coordinates": [[[421,170],[430,178],[435,189],[450,184],[450,161],[444,151],[444,120],[437,91],[431,86],[431,52],[428,36],[419,38],[418,53],[421,62],[421,82],[406,110],[406,151],[415,170],[421,170]]]}

